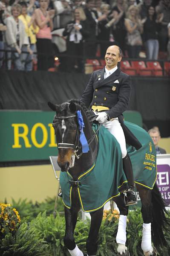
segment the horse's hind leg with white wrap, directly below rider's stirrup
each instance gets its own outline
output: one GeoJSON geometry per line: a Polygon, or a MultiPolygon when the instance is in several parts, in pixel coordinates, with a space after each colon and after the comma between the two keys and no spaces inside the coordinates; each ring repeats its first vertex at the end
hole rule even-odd
{"type": "Polygon", "coordinates": [[[126,247],[126,226],[127,226],[127,215],[128,206],[124,204],[124,194],[122,193],[119,197],[114,198],[115,203],[120,211],[120,217],[118,221],[118,232],[116,235],[116,242],[118,244],[117,252],[122,256],[130,256],[130,253],[126,247]]]}

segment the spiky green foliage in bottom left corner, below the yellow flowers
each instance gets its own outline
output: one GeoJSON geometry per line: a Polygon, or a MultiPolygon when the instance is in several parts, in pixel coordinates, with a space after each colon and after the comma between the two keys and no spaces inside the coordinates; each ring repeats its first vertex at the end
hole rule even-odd
{"type": "Polygon", "coordinates": [[[47,254],[48,244],[28,224],[20,225],[15,236],[8,233],[0,240],[1,256],[51,256],[47,254]]]}

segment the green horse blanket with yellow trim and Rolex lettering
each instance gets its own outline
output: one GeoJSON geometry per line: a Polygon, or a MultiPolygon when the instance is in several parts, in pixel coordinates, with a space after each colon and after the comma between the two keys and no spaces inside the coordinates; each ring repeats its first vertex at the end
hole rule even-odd
{"type": "MultiPolygon", "coordinates": [[[[149,134],[138,125],[125,122],[125,125],[138,138],[142,147],[136,149],[127,145],[127,152],[133,166],[135,183],[153,189],[156,182],[156,149],[149,134]]],[[[93,125],[94,131],[98,125],[93,125]]],[[[95,163],[78,177],[78,195],[84,212],[100,209],[110,199],[120,195],[119,190],[127,183],[123,171],[121,148],[117,140],[103,126],[98,131],[98,156],[95,163]]],[[[69,172],[61,172],[60,185],[63,204],[70,208],[72,204],[73,180],[69,172]]]]}

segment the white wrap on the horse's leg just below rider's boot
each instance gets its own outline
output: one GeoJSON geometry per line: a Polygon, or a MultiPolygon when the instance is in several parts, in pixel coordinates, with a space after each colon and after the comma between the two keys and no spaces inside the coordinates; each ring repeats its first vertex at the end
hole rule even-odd
{"type": "Polygon", "coordinates": [[[118,221],[118,232],[116,235],[116,242],[117,244],[126,244],[126,223],[127,223],[127,216],[120,215],[118,221]]]}

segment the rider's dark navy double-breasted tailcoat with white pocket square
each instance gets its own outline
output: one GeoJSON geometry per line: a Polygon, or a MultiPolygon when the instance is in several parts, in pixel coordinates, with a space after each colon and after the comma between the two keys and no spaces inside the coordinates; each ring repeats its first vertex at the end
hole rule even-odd
{"type": "Polygon", "coordinates": [[[141,148],[141,143],[124,125],[122,113],[127,110],[130,101],[131,79],[118,68],[114,73],[104,79],[105,68],[94,71],[89,83],[84,90],[81,101],[86,107],[104,106],[109,119],[118,117],[124,131],[126,142],[136,149],[141,148]]]}

